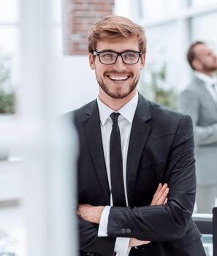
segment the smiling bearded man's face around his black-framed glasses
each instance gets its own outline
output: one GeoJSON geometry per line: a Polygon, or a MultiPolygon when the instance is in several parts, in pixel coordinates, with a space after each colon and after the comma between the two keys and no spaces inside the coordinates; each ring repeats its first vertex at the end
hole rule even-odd
{"type": "MultiPolygon", "coordinates": [[[[137,39],[123,39],[118,41],[97,42],[96,51],[104,50],[121,53],[125,50],[140,51],[137,39]]],[[[140,79],[140,70],[145,64],[145,54],[142,54],[137,64],[124,64],[118,56],[115,64],[102,64],[99,56],[89,54],[91,69],[96,72],[96,80],[107,96],[114,99],[123,99],[135,91],[140,79]]],[[[100,94],[100,92],[99,92],[100,94]]]]}

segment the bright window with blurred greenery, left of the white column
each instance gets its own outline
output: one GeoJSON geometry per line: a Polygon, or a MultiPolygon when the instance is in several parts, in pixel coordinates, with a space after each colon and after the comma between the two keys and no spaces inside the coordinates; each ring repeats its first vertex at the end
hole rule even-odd
{"type": "Polygon", "coordinates": [[[18,86],[18,0],[0,0],[0,113],[14,111],[18,86]]]}

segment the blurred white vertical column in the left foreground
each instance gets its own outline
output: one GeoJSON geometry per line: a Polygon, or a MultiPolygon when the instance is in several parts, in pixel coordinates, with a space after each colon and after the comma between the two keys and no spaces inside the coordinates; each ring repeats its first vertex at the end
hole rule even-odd
{"type": "Polygon", "coordinates": [[[75,154],[73,138],[54,125],[58,70],[53,43],[53,1],[20,0],[17,116],[26,179],[28,256],[74,256],[77,247],[75,154]]]}

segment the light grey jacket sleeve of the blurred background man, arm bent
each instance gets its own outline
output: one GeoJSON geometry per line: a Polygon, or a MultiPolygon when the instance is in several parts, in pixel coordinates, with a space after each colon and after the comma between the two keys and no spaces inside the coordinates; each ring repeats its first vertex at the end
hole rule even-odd
{"type": "Polygon", "coordinates": [[[194,124],[194,139],[197,145],[208,145],[217,142],[217,123],[200,126],[199,122],[199,99],[194,91],[186,90],[180,94],[179,110],[189,114],[194,124]]]}

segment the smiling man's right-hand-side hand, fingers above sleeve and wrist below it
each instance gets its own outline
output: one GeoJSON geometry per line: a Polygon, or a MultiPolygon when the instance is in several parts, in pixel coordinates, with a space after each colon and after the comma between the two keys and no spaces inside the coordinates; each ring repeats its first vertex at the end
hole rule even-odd
{"type": "MultiPolygon", "coordinates": [[[[161,206],[167,203],[168,192],[169,192],[169,188],[167,184],[165,183],[164,186],[162,186],[162,184],[160,183],[159,187],[156,189],[155,194],[153,195],[151,206],[161,206]]],[[[151,241],[142,241],[136,238],[130,238],[129,247],[140,246],[140,245],[145,245],[149,243],[151,243],[151,241]]]]}

